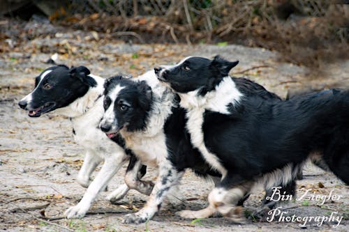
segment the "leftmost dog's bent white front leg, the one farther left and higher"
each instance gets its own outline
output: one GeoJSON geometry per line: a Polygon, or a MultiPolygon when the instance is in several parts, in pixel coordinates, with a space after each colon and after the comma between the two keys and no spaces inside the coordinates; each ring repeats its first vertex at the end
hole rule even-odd
{"type": "Polygon", "coordinates": [[[101,157],[98,157],[94,154],[94,152],[87,150],[82,167],[79,174],[77,174],[77,183],[79,183],[82,187],[89,187],[89,184],[91,183],[91,173],[101,162],[101,157]]]}

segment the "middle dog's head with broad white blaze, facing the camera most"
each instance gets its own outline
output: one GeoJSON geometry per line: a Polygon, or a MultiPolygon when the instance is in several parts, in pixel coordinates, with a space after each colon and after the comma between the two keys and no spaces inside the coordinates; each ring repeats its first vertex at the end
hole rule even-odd
{"type": "Polygon", "coordinates": [[[105,82],[103,115],[100,127],[112,138],[120,130],[135,132],[146,126],[152,91],[146,82],[112,77],[105,82]]]}

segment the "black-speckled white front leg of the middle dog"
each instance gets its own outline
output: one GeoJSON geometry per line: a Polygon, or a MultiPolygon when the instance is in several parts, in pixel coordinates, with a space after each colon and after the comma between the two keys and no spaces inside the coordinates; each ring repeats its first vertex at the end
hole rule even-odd
{"type": "Polygon", "coordinates": [[[177,171],[169,160],[164,160],[159,165],[158,178],[147,205],[136,213],[126,215],[124,223],[140,224],[151,219],[160,209],[163,198],[170,190],[170,187],[176,185],[181,176],[183,176],[183,171],[177,171]]]}

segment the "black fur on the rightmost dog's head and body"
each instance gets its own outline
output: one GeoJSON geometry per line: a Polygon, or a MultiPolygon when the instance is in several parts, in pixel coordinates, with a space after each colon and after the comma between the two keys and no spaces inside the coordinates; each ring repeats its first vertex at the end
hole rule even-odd
{"type": "MultiPolygon", "coordinates": [[[[215,91],[212,80],[216,85],[221,83],[226,72],[217,70],[228,61],[216,58],[188,61],[187,69],[193,72],[188,72],[186,77],[180,71],[181,66],[177,66],[165,70],[159,79],[179,93],[215,91]]],[[[349,183],[347,91],[322,91],[287,101],[265,100],[245,93],[234,106],[227,105],[230,114],[205,111],[202,125],[205,146],[228,170],[222,186],[255,180],[287,164],[297,168],[313,152],[320,153],[329,169],[349,183]]]]}

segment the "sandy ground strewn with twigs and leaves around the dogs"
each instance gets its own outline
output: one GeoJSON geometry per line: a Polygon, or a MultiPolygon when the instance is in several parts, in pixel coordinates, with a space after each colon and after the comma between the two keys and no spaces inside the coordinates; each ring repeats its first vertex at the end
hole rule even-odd
{"type": "MultiPolygon", "coordinates": [[[[49,66],[44,61],[56,50],[60,51],[59,63],[86,65],[92,73],[103,77],[118,73],[138,75],[155,64],[173,63],[188,55],[221,54],[227,59],[239,59],[232,74],[251,78],[283,98],[299,91],[347,87],[349,61],[328,64],[327,72],[315,77],[304,67],[279,63],[278,54],[265,49],[235,45],[128,45],[56,37],[31,40],[20,49],[0,54],[0,231],[349,231],[348,186],[332,173],[313,166],[306,167],[304,180],[298,181],[297,188],[303,188],[298,196],[309,190],[309,194],[318,196],[331,194],[332,199],[323,204],[315,199],[293,201],[282,205],[284,216],[332,216],[332,222],[304,224],[279,222],[275,218],[272,222],[248,219],[246,224],[238,225],[223,218],[181,219],[174,212],[205,207],[212,188],[211,183],[190,171],[181,181],[181,203],[165,206],[146,224],[121,223],[126,213],[137,211],[147,200],[135,191],[116,205],[106,201],[108,192],[102,192],[86,217],[64,219],[63,212],[84,194],[85,189],[75,181],[84,151],[73,141],[67,118],[54,113],[29,118],[17,106],[17,101],[34,87],[34,77],[49,66]],[[343,218],[340,223],[333,222],[334,216],[343,218]]],[[[121,183],[124,172],[125,168],[114,176],[109,192],[121,183]]],[[[154,180],[156,171],[148,169],[144,178],[154,180]]],[[[247,215],[258,209],[262,196],[259,192],[246,201],[247,215]]]]}

